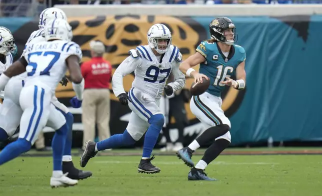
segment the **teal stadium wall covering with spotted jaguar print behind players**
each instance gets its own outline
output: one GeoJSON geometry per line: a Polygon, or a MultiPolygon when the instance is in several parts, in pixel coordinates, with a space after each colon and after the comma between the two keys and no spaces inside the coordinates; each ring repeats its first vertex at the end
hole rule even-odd
{"type": "MultiPolygon", "coordinates": [[[[164,23],[172,31],[172,42],[180,48],[183,59],[195,52],[201,40],[209,37],[208,23],[215,16],[100,15],[69,17],[73,41],[89,59],[89,40],[104,42],[104,57],[112,63],[113,72],[138,44],[147,44],[146,32],[153,23],[164,23]]],[[[322,15],[231,16],[237,26],[238,44],[246,50],[246,83],[244,91],[226,88],[222,93],[226,115],[231,120],[232,144],[266,141],[322,140],[322,89],[318,62],[322,51],[322,15]]],[[[38,21],[30,18],[1,18],[0,25],[12,32],[21,54],[29,34],[38,21]],[[14,22],[12,22],[14,21],[14,22]]],[[[133,74],[124,78],[129,90],[133,74]]],[[[189,88],[192,79],[188,78],[189,88]]],[[[58,99],[70,106],[74,95],[70,83],[58,85],[58,99]]],[[[130,110],[111,94],[111,134],[120,133],[127,125],[130,110]]],[[[189,125],[184,130],[185,144],[194,139],[202,125],[192,115],[189,105],[189,125]]],[[[82,142],[81,109],[71,108],[75,123],[73,145],[82,142]]],[[[173,122],[173,121],[172,121],[173,122]]],[[[51,138],[50,129],[46,134],[51,138]]],[[[175,139],[175,131],[172,136],[175,139]]],[[[50,141],[47,141],[50,145],[50,141]]]]}

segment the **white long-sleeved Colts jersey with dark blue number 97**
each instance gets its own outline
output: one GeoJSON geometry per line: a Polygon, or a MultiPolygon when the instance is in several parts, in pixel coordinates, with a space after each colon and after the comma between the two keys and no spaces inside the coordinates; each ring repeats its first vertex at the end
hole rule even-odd
{"type": "Polygon", "coordinates": [[[145,92],[155,99],[159,99],[163,93],[166,80],[170,72],[175,81],[169,83],[176,91],[185,84],[184,74],[178,69],[182,55],[179,49],[171,45],[158,60],[148,45],[140,45],[136,50],[129,50],[128,56],[116,69],[112,77],[112,88],[116,96],[125,93],[122,85],[122,77],[134,71],[135,78],[132,87],[145,92]]]}

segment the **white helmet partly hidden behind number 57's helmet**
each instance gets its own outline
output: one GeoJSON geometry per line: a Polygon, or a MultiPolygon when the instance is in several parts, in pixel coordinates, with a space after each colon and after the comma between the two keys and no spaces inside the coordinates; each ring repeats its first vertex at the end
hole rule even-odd
{"type": "Polygon", "coordinates": [[[46,21],[48,22],[49,20],[52,20],[55,18],[60,18],[67,21],[67,16],[65,12],[63,12],[61,9],[56,7],[49,7],[49,8],[43,9],[43,11],[41,11],[39,15],[38,27],[43,28],[44,25],[46,25],[46,21]]]}

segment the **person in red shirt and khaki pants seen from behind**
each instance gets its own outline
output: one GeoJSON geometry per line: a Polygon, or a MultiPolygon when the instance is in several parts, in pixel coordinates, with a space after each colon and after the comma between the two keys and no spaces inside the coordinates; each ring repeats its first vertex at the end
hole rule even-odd
{"type": "Polygon", "coordinates": [[[105,45],[100,41],[90,41],[92,58],[81,65],[81,74],[85,80],[82,100],[81,121],[84,126],[83,142],[94,140],[95,124],[97,124],[99,140],[110,137],[109,112],[110,95],[109,81],[112,67],[103,59],[105,45]]]}

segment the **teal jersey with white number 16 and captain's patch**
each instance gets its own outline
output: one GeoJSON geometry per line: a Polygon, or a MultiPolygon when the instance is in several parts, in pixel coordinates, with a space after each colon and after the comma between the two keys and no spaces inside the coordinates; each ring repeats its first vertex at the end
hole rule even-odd
{"type": "Polygon", "coordinates": [[[245,49],[240,45],[233,44],[228,56],[225,57],[216,42],[202,41],[196,51],[205,57],[205,61],[200,63],[199,73],[210,78],[210,85],[206,91],[220,96],[225,86],[220,81],[224,81],[226,76],[235,75],[238,64],[246,59],[245,49]]]}

